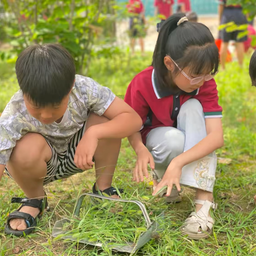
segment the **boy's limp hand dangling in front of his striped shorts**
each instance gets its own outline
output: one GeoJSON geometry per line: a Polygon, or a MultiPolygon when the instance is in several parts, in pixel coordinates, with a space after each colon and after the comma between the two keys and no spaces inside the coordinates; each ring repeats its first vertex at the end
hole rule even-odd
{"type": "Polygon", "coordinates": [[[92,158],[98,147],[98,138],[95,137],[91,130],[87,130],[81,141],[78,143],[76,148],[76,154],[74,158],[74,163],[77,168],[81,170],[92,169],[94,162],[92,158]]]}

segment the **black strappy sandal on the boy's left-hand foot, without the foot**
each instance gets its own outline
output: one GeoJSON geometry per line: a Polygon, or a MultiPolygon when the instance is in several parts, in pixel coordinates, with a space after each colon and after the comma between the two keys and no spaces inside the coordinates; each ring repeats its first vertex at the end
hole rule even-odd
{"type": "Polygon", "coordinates": [[[4,228],[4,232],[7,235],[14,235],[14,236],[23,236],[23,235],[28,235],[30,234],[37,226],[37,219],[40,219],[43,215],[44,211],[49,211],[50,208],[47,203],[47,197],[45,194],[45,198],[43,199],[29,199],[27,197],[21,198],[21,197],[13,197],[11,203],[21,203],[22,205],[17,209],[16,211],[10,213],[7,218],[7,224],[4,228]],[[29,213],[25,212],[19,212],[21,207],[23,206],[30,206],[34,208],[38,208],[40,212],[34,218],[31,216],[29,213]],[[24,219],[25,223],[27,225],[27,228],[25,230],[19,231],[19,230],[14,230],[10,226],[10,220],[12,219],[24,219]]]}

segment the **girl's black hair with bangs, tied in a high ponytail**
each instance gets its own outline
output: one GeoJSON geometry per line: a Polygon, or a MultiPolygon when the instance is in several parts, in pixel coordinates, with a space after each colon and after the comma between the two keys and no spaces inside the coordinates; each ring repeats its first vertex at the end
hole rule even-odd
{"type": "Polygon", "coordinates": [[[166,81],[166,54],[170,55],[181,69],[189,67],[193,75],[205,72],[215,74],[218,71],[219,50],[210,29],[202,23],[190,21],[178,26],[177,23],[182,17],[184,14],[173,14],[162,24],[159,31],[152,66],[160,87],[175,86],[172,81],[166,81]]]}

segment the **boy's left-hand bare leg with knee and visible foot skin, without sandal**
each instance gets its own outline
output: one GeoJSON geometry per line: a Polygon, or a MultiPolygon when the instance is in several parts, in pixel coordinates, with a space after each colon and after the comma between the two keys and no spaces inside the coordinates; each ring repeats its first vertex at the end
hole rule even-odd
{"type": "MultiPolygon", "coordinates": [[[[44,197],[43,182],[47,175],[46,163],[51,157],[52,150],[40,134],[28,133],[17,141],[10,161],[7,163],[7,169],[28,198],[42,199],[44,197]]],[[[39,209],[23,206],[20,212],[36,217],[39,209]]],[[[27,228],[23,219],[12,219],[10,226],[14,230],[27,228]]]]}

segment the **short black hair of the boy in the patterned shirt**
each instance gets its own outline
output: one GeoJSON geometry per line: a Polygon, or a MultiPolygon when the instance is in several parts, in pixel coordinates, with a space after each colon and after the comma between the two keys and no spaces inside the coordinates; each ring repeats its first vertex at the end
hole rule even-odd
{"type": "Polygon", "coordinates": [[[27,47],[15,69],[23,95],[39,107],[58,105],[72,89],[76,74],[74,59],[59,44],[27,47]]]}

